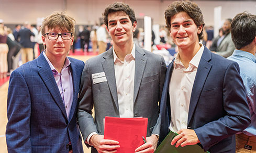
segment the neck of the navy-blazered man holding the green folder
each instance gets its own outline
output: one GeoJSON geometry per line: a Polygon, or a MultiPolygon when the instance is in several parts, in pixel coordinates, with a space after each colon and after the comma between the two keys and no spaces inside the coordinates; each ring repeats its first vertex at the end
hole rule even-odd
{"type": "Polygon", "coordinates": [[[186,68],[200,48],[199,42],[186,46],[185,48],[178,48],[181,62],[186,68]]]}

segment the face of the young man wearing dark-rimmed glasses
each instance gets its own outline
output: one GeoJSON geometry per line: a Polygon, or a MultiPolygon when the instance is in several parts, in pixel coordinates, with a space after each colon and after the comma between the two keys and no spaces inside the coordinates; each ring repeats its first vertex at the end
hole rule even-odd
{"type": "MultiPolygon", "coordinates": [[[[46,27],[45,33],[55,32],[55,33],[64,33],[70,32],[68,30],[60,30],[60,28],[48,29],[46,27]]],[[[43,44],[46,45],[46,55],[49,59],[53,59],[55,57],[63,57],[66,56],[70,50],[70,46],[73,44],[74,37],[70,40],[63,40],[61,36],[57,40],[49,40],[48,36],[42,36],[43,44]]]]}

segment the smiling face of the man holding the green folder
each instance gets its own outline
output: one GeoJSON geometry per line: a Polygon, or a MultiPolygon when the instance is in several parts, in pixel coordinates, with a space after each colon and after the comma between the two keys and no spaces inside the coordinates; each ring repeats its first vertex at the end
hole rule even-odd
{"type": "Polygon", "coordinates": [[[199,43],[198,34],[203,25],[196,26],[194,20],[184,11],[171,17],[170,33],[178,48],[190,48],[199,43]]]}

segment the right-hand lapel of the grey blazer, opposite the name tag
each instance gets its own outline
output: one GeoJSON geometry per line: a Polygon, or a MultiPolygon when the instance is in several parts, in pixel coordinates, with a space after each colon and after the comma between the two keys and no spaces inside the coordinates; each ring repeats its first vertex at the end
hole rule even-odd
{"type": "Polygon", "coordinates": [[[142,77],[144,74],[144,69],[147,63],[147,57],[144,56],[145,52],[136,45],[135,48],[135,77],[134,77],[134,90],[133,90],[133,103],[135,102],[140,84],[142,81],[142,77]]]}

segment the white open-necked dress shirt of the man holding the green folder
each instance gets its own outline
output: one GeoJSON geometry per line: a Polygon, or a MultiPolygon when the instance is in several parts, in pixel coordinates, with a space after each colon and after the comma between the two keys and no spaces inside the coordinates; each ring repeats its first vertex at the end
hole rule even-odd
{"type": "Polygon", "coordinates": [[[204,45],[200,45],[201,48],[192,58],[187,68],[185,68],[181,62],[179,53],[173,62],[173,72],[169,84],[172,116],[169,129],[173,132],[177,132],[182,128],[187,128],[191,92],[195,81],[197,68],[204,51],[204,45]]]}

